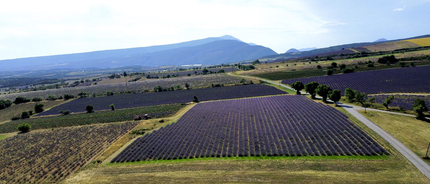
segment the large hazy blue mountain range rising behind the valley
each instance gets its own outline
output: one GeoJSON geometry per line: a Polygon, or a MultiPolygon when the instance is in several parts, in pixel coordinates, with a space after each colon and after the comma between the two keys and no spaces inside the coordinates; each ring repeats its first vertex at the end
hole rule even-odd
{"type": "Polygon", "coordinates": [[[245,43],[233,36],[224,35],[168,45],[0,60],[2,65],[0,70],[208,65],[252,60],[273,54],[277,53],[270,48],[245,43]]]}

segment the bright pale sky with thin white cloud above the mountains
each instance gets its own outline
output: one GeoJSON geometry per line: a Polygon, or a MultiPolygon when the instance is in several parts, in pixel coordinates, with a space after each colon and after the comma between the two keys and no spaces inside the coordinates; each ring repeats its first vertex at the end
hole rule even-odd
{"type": "Polygon", "coordinates": [[[186,42],[225,34],[284,53],[430,34],[430,0],[10,0],[0,60],[186,42]]]}

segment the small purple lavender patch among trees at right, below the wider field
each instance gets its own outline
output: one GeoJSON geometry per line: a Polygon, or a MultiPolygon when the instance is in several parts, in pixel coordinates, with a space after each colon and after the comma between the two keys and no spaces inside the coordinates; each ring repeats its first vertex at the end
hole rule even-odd
{"type": "MultiPolygon", "coordinates": [[[[369,95],[369,98],[375,97],[376,103],[382,104],[388,96],[391,95],[369,95]]],[[[412,111],[412,105],[414,105],[414,100],[417,98],[426,101],[427,107],[430,107],[430,95],[396,94],[393,96],[394,100],[390,103],[390,106],[393,107],[403,107],[406,110],[412,111]]]]}

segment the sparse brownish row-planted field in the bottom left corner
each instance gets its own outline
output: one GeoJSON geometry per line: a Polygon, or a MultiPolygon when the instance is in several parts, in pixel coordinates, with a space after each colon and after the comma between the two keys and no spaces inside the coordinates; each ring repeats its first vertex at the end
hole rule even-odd
{"type": "Polygon", "coordinates": [[[59,183],[137,124],[59,128],[4,139],[0,142],[0,183],[59,183]]]}

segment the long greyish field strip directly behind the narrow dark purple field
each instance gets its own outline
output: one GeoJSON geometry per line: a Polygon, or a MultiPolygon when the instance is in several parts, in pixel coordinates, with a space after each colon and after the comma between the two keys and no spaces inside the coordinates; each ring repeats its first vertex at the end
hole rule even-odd
{"type": "Polygon", "coordinates": [[[240,78],[224,75],[222,73],[219,74],[211,74],[211,75],[191,75],[186,77],[178,77],[178,78],[159,78],[159,79],[151,79],[144,81],[135,81],[128,82],[127,85],[124,83],[118,84],[96,84],[92,86],[84,86],[84,87],[65,87],[59,89],[49,89],[49,90],[40,90],[40,91],[29,91],[23,93],[14,93],[14,94],[1,94],[0,99],[8,99],[15,100],[16,97],[22,96],[26,98],[46,98],[48,95],[53,95],[55,97],[59,97],[64,94],[72,94],[77,96],[79,92],[86,92],[87,94],[104,94],[106,91],[112,91],[114,93],[122,93],[129,91],[144,91],[144,90],[152,90],[154,87],[158,85],[167,88],[167,87],[175,87],[176,85],[180,85],[181,87],[185,87],[185,83],[188,83],[190,87],[202,87],[202,86],[210,86],[211,84],[238,84],[240,78]]]}

